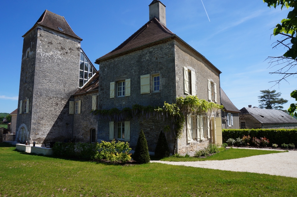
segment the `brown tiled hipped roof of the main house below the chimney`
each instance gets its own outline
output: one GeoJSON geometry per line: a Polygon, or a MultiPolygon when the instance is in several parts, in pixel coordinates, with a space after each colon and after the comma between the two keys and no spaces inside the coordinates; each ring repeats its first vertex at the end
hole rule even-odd
{"type": "Polygon", "coordinates": [[[175,34],[163,26],[156,18],[153,18],[113,51],[103,55],[101,58],[98,58],[95,63],[99,63],[100,60],[109,56],[140,47],[172,35],[175,34]]]}

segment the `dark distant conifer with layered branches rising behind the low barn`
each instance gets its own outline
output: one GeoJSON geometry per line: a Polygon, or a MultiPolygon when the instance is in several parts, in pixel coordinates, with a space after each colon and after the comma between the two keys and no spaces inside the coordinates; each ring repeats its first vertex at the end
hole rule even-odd
{"type": "Polygon", "coordinates": [[[260,90],[261,92],[261,96],[258,96],[258,98],[260,100],[259,103],[259,107],[262,109],[283,109],[284,107],[282,107],[283,104],[287,103],[288,100],[283,99],[283,98],[279,98],[281,96],[282,93],[275,93],[276,90],[260,90]]]}

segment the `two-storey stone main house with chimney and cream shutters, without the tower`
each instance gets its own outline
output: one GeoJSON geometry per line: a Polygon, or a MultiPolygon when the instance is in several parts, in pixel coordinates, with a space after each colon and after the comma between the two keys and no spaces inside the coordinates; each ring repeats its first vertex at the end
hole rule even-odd
{"type": "MultiPolygon", "coordinates": [[[[197,95],[199,99],[221,103],[220,71],[198,51],[171,32],[166,25],[165,5],[154,0],[149,5],[149,21],[111,52],[98,58],[98,109],[122,110],[133,104],[163,106],[177,97],[197,95]]],[[[220,113],[189,115],[176,151],[193,152],[208,143],[222,143],[220,113]]],[[[154,151],[163,117],[143,119],[98,119],[99,140],[124,140],[136,146],[143,129],[149,151],[154,151]]],[[[173,150],[174,136],[166,134],[173,150]]]]}

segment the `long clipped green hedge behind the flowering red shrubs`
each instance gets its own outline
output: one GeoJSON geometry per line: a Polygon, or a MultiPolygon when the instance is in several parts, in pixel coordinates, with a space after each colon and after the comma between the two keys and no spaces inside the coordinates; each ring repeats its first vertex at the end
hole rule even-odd
{"type": "Polygon", "coordinates": [[[223,143],[229,138],[242,138],[249,135],[251,140],[253,137],[266,137],[269,140],[268,146],[277,144],[279,147],[282,144],[295,144],[297,146],[297,129],[223,129],[223,143]]]}

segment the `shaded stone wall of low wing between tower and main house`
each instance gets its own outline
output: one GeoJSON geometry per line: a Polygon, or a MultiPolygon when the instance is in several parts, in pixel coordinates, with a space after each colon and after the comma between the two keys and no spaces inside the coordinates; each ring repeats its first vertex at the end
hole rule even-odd
{"type": "Polygon", "coordinates": [[[75,142],[90,142],[92,128],[96,129],[97,141],[97,115],[90,113],[92,110],[92,96],[97,94],[98,90],[74,96],[74,101],[81,101],[80,114],[73,115],[73,138],[75,138],[75,142]]]}

